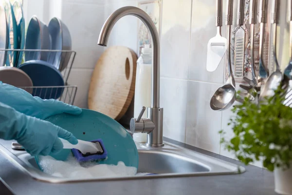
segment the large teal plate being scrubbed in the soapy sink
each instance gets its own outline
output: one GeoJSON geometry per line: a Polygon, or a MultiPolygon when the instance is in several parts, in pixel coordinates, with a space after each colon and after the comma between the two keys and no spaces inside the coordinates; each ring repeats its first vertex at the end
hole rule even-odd
{"type": "MultiPolygon", "coordinates": [[[[68,131],[77,139],[91,141],[101,138],[108,151],[108,158],[99,164],[114,164],[123,161],[126,166],[138,168],[139,156],[137,147],[127,130],[114,119],[99,112],[82,109],[80,115],[58,114],[46,118],[68,131]]],[[[63,149],[52,155],[57,160],[66,160],[71,155],[70,149],[63,149]]],[[[36,156],[38,163],[38,157],[36,156]]]]}

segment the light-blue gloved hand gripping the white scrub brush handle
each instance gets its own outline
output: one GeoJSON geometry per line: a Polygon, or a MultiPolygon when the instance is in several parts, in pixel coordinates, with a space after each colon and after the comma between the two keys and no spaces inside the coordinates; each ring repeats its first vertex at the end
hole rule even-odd
{"type": "Polygon", "coordinates": [[[32,156],[46,156],[63,148],[58,137],[72,144],[78,142],[72,133],[51,122],[26,116],[0,103],[0,138],[16,139],[32,156]]]}

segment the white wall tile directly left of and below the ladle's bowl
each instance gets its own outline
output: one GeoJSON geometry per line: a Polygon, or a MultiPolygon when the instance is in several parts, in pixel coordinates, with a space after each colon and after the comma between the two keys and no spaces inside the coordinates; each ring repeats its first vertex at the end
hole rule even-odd
{"type": "Polygon", "coordinates": [[[221,112],[210,108],[210,98],[219,84],[188,81],[186,143],[217,153],[220,152],[221,112]]]}

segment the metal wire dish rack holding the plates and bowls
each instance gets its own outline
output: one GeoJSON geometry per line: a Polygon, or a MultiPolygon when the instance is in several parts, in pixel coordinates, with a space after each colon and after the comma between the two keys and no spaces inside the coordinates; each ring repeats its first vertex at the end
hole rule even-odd
{"type": "Polygon", "coordinates": [[[75,51],[69,50],[0,49],[0,66],[13,66],[18,68],[21,64],[36,59],[49,62],[62,75],[65,83],[64,86],[16,87],[24,89],[33,96],[38,96],[43,99],[54,98],[73,105],[77,86],[69,85],[68,78],[70,76],[75,55],[75,51]]]}

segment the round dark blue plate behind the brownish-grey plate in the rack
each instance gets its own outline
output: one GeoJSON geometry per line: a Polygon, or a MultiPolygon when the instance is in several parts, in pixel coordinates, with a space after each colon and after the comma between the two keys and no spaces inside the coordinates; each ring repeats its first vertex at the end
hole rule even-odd
{"type": "MultiPolygon", "coordinates": [[[[64,79],[52,64],[42,60],[30,60],[21,64],[19,69],[23,70],[33,81],[34,87],[37,86],[64,86],[64,79]]],[[[34,88],[33,96],[42,99],[59,98],[64,88],[34,88]]]]}

